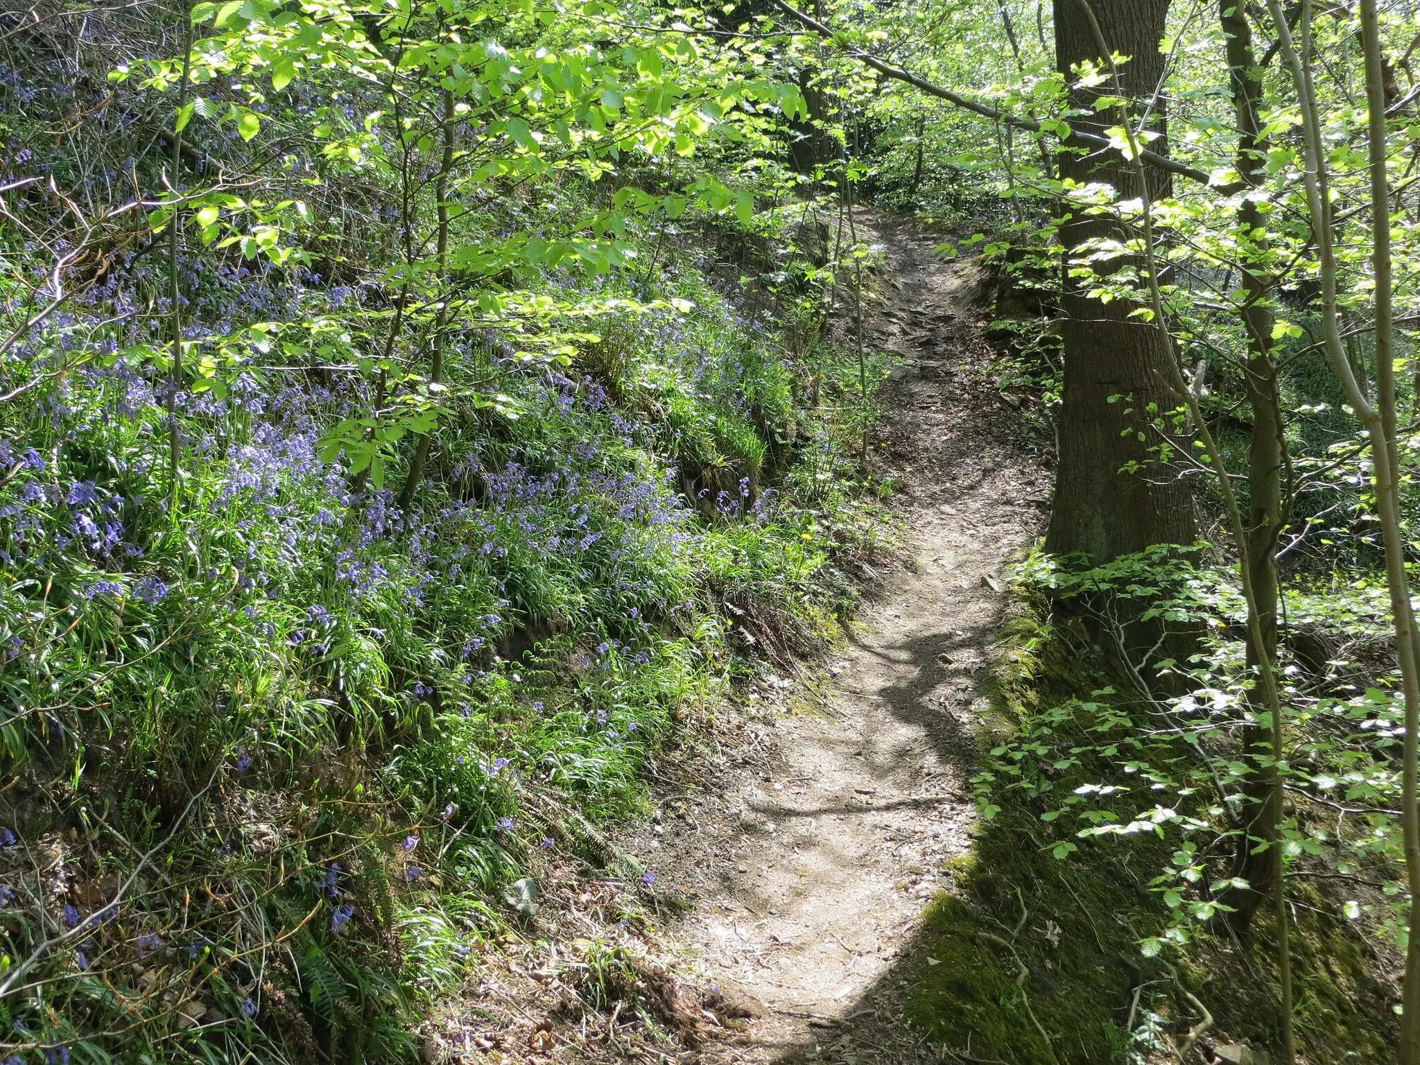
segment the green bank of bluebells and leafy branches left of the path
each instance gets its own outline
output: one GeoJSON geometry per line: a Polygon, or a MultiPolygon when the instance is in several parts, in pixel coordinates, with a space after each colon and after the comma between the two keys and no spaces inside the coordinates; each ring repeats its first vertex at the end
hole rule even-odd
{"type": "Polygon", "coordinates": [[[851,601],[819,204],[716,176],[797,91],[619,17],[6,17],[20,1061],[412,1052],[528,853],[851,601]]]}

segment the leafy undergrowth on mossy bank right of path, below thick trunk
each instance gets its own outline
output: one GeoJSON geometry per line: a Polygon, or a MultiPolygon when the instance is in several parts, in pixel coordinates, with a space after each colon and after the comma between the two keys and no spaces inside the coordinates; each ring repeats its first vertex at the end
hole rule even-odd
{"type": "MultiPolygon", "coordinates": [[[[1221,719],[1237,720],[1224,704],[1235,704],[1217,701],[1211,726],[1198,714],[1181,728],[1160,720],[1159,704],[1100,646],[1109,640],[1098,619],[1086,625],[1041,565],[1037,557],[1025,564],[1001,632],[994,710],[980,736],[981,819],[970,853],[947,868],[957,890],[926,914],[909,1015],[963,1055],[1021,1064],[1147,1062],[1193,1047],[1275,1045],[1271,907],[1242,936],[1224,920],[1231,835],[1218,798],[1247,772],[1223,736],[1221,719]],[[1231,763],[1230,780],[1220,763],[1231,763]]],[[[1176,619],[1193,611],[1216,619],[1191,673],[1213,669],[1208,692],[1224,689],[1218,663],[1235,667],[1238,657],[1225,581],[1170,568],[1160,589],[1163,567],[1147,557],[1113,569],[1081,581],[1098,581],[1099,591],[1112,578],[1118,594],[1127,569],[1137,595],[1169,594],[1176,619]]],[[[1308,604],[1315,601],[1294,596],[1298,613],[1308,604]]],[[[1373,628],[1360,618],[1375,615],[1356,608],[1350,628],[1373,628]]],[[[1191,687],[1164,701],[1187,716],[1201,694],[1191,687]]],[[[1302,714],[1294,727],[1309,720],[1302,714]]],[[[1325,798],[1335,782],[1321,761],[1314,748],[1299,780],[1311,774],[1308,790],[1325,798]]],[[[1394,960],[1377,956],[1370,937],[1392,920],[1396,890],[1365,883],[1393,878],[1394,866],[1367,856],[1376,825],[1326,832],[1338,825],[1335,809],[1301,795],[1289,812],[1296,1031],[1306,1059],[1389,1061],[1394,960]]]]}

